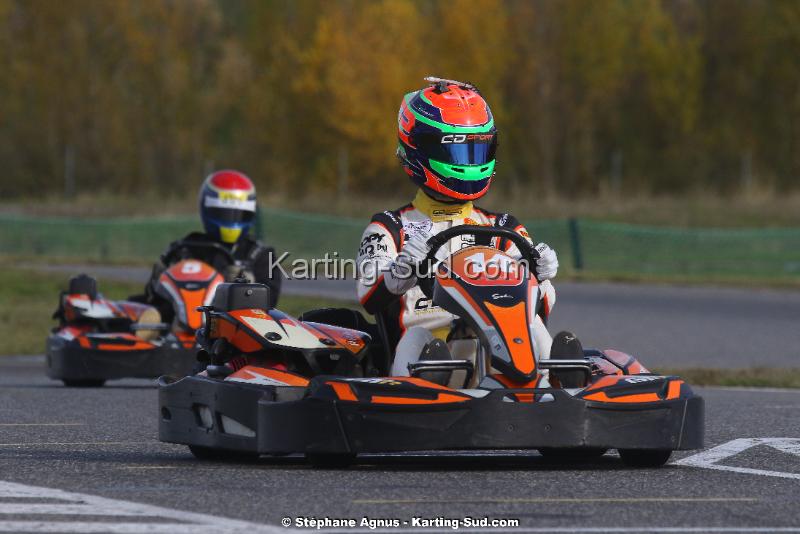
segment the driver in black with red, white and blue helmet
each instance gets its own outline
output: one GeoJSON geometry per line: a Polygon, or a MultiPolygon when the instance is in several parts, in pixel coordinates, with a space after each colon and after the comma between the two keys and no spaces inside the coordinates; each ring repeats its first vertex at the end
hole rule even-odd
{"type": "Polygon", "coordinates": [[[144,295],[131,300],[155,306],[161,313],[161,320],[171,322],[174,312],[169,302],[156,291],[158,278],[173,263],[192,258],[214,267],[223,274],[226,282],[243,276],[249,282],[266,284],[270,288],[269,305],[274,307],[282,278],[280,269],[270,268],[275,249],[250,235],[256,215],[256,188],[252,180],[238,171],[217,171],[209,175],[200,187],[199,204],[205,232],[191,232],[170,243],[153,265],[144,295]],[[231,263],[224,252],[214,250],[214,244],[226,249],[235,263],[231,263]]]}

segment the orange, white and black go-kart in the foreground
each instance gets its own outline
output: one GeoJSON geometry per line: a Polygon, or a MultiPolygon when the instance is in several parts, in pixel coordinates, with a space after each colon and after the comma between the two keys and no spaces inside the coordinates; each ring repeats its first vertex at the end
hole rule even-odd
{"type": "Polygon", "coordinates": [[[626,464],[658,466],[703,446],[703,399],[680,378],[614,350],[569,354],[554,342],[551,358],[538,358],[535,249],[510,230],[458,226],[431,238],[428,259],[462,234],[509,239],[523,260],[471,246],[422,285],[477,337],[474,359],[423,358],[410,376],[370,376],[387,367],[367,332],[299,321],[267,309],[264,286],[223,284],[203,308],[206,372],[159,379],[159,438],[201,458],[301,453],[337,463],[396,451],[617,449],[626,464]],[[226,364],[236,358],[246,364],[226,364]],[[449,379],[425,378],[433,373],[449,379]]]}

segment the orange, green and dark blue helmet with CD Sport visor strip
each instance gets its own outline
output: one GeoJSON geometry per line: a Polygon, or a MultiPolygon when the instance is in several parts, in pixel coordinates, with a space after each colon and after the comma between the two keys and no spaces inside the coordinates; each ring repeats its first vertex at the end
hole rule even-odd
{"type": "Polygon", "coordinates": [[[397,117],[397,156],[429,195],[466,202],[482,197],[494,176],[497,130],[489,105],[467,83],[425,78],[397,117]]]}

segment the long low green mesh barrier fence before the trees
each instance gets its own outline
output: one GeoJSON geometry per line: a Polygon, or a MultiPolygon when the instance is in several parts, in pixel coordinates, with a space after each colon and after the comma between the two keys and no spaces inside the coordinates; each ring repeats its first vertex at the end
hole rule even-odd
{"type": "MultiPolygon", "coordinates": [[[[290,258],[352,258],[366,220],[266,210],[259,234],[290,258]]],[[[562,270],[604,275],[800,280],[800,229],[675,229],[588,220],[526,221],[559,253],[562,270]]],[[[0,254],[149,263],[199,228],[194,217],[33,218],[0,215],[0,254]]]]}

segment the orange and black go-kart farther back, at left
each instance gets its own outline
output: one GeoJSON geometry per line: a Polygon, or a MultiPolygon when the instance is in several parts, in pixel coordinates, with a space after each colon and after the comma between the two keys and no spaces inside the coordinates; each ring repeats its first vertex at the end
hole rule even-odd
{"type": "MultiPolygon", "coordinates": [[[[222,246],[195,245],[213,247],[233,262],[222,246]]],[[[53,314],[60,324],[47,338],[47,375],[67,386],[99,387],[117,378],[191,373],[197,362],[195,331],[203,322],[197,308],[211,302],[224,279],[199,260],[170,256],[164,261],[170,266],[155,290],[172,305],[170,323],[160,322],[161,314],[147,304],[104,298],[89,276],[72,278],[53,314]]]]}

